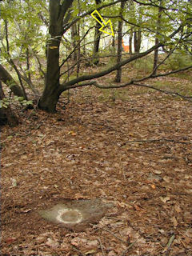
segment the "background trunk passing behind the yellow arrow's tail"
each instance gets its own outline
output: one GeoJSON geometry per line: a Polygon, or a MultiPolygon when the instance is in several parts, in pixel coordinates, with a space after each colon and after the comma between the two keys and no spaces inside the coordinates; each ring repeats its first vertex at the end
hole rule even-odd
{"type": "MultiPolygon", "coordinates": [[[[95,0],[95,2],[98,5],[102,2],[102,0],[95,0]]],[[[98,18],[99,21],[101,21],[101,18],[98,17],[97,14],[95,14],[95,16],[98,18]]],[[[96,22],[95,32],[94,32],[94,53],[93,53],[94,65],[98,65],[98,63],[99,63],[98,50],[99,50],[99,42],[100,42],[100,38],[101,38],[101,34],[102,34],[102,32],[99,31],[100,27],[101,27],[101,25],[98,22],[96,22]]]]}

